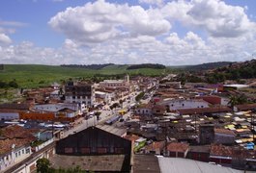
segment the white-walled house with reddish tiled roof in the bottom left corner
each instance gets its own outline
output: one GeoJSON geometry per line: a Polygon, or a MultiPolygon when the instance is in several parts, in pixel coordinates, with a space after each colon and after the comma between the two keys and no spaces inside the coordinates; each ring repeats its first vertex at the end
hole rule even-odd
{"type": "Polygon", "coordinates": [[[0,134],[0,172],[16,162],[28,158],[32,154],[30,143],[35,140],[35,136],[20,126],[11,125],[2,128],[0,134]]]}

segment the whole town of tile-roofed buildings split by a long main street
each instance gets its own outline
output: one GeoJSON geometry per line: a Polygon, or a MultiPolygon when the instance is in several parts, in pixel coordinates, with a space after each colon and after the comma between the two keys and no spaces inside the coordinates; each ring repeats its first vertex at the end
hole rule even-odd
{"type": "Polygon", "coordinates": [[[256,103],[235,102],[253,84],[169,74],[22,89],[24,102],[0,105],[0,172],[35,172],[42,159],[93,172],[255,171],[256,103]]]}

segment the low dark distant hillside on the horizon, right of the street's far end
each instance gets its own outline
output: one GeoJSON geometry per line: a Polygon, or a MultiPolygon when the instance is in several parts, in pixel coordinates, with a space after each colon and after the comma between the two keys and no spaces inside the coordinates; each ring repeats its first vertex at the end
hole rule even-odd
{"type": "Polygon", "coordinates": [[[208,62],[208,63],[202,63],[202,64],[197,64],[197,65],[188,65],[188,66],[183,66],[185,70],[211,70],[214,68],[222,67],[229,65],[234,62],[208,62]]]}

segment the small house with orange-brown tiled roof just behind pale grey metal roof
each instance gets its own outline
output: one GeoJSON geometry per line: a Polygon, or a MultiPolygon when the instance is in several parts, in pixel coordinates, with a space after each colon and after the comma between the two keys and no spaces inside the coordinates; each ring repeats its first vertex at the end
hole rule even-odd
{"type": "Polygon", "coordinates": [[[185,158],[188,149],[188,143],[172,142],[167,145],[167,156],[172,158],[185,158]]]}

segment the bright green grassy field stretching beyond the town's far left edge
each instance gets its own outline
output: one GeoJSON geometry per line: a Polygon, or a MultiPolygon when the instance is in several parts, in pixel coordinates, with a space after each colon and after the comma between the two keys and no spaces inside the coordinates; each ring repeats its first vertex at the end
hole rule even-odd
{"type": "Polygon", "coordinates": [[[23,88],[33,88],[39,86],[49,86],[53,82],[62,83],[72,79],[90,79],[95,75],[118,75],[142,74],[146,76],[163,75],[171,72],[171,68],[149,69],[140,68],[127,70],[128,65],[109,65],[100,70],[85,68],[70,68],[52,65],[36,64],[6,64],[4,70],[0,71],[0,81],[10,82],[15,80],[18,86],[23,88]]]}

